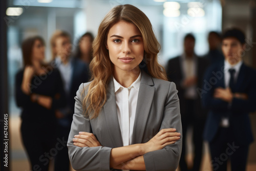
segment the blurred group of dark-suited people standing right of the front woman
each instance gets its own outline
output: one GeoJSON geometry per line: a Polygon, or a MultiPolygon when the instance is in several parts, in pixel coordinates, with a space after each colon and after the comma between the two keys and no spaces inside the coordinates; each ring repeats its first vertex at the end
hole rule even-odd
{"type": "Polygon", "coordinates": [[[180,99],[183,144],[181,171],[200,170],[203,140],[208,141],[214,170],[246,170],[253,141],[249,113],[255,112],[256,72],[243,63],[245,35],[236,28],[208,34],[209,52],[199,57],[193,34],[184,37],[182,55],[168,61],[166,73],[180,99]],[[186,161],[186,135],[193,129],[193,166],[186,161]],[[243,137],[243,138],[242,138],[243,137]]]}

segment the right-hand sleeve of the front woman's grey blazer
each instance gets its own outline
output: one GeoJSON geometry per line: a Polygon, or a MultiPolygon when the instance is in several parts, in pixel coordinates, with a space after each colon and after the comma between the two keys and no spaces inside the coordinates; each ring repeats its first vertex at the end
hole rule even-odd
{"type": "MultiPolygon", "coordinates": [[[[180,104],[175,83],[170,82],[169,91],[165,100],[163,119],[160,130],[175,128],[181,133],[180,140],[174,144],[166,145],[163,149],[149,152],[143,155],[146,170],[176,170],[178,167],[182,149],[182,125],[180,116],[180,104]]],[[[159,130],[159,131],[160,131],[159,130]]]]}

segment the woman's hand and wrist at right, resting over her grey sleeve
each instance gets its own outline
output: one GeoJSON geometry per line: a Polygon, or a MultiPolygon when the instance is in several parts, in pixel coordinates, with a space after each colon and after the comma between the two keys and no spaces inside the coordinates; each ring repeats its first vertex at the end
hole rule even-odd
{"type": "Polygon", "coordinates": [[[162,149],[166,145],[173,144],[180,139],[180,133],[176,129],[162,129],[150,141],[143,144],[143,154],[162,149]]]}

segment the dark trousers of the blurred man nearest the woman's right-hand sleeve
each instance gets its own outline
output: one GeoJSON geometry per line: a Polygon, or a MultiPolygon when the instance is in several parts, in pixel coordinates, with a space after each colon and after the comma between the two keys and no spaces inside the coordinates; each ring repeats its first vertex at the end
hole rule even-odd
{"type": "Polygon", "coordinates": [[[181,108],[186,107],[186,113],[181,114],[182,122],[182,152],[180,158],[180,169],[181,171],[187,171],[187,163],[185,161],[186,154],[186,135],[189,126],[193,127],[193,144],[194,144],[194,160],[193,160],[193,170],[199,171],[202,159],[202,149],[203,149],[203,130],[205,117],[198,117],[194,113],[194,100],[186,100],[186,105],[181,106],[181,108]]]}

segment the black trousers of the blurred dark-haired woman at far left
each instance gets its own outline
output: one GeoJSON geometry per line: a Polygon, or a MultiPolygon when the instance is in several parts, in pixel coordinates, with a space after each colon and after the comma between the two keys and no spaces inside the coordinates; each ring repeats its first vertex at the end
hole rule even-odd
{"type": "Polygon", "coordinates": [[[29,157],[31,170],[47,171],[50,160],[56,154],[54,150],[55,126],[23,121],[20,131],[22,132],[23,144],[29,157]]]}

